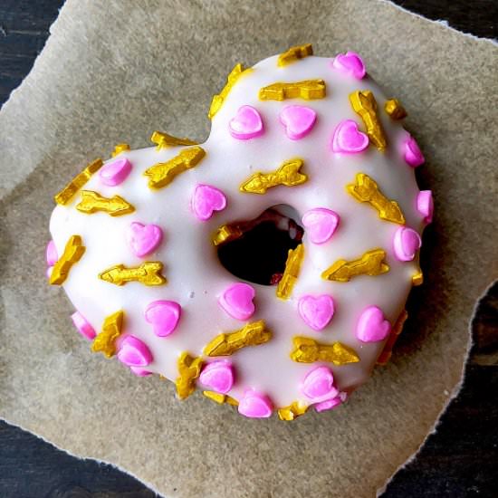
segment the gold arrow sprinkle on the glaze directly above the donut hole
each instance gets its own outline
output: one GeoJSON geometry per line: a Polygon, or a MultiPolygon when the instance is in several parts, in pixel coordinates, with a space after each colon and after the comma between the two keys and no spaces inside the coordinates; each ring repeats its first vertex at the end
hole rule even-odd
{"type": "Polygon", "coordinates": [[[308,177],[300,173],[302,159],[290,159],[283,165],[270,173],[258,171],[240,186],[240,191],[247,194],[265,194],[268,188],[283,185],[285,187],[295,187],[308,181],[308,177]]]}

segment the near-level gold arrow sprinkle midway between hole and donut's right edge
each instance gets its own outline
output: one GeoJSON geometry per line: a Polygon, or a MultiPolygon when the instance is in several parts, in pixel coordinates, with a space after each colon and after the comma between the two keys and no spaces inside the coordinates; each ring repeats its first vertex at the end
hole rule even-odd
{"type": "Polygon", "coordinates": [[[352,277],[358,275],[381,275],[389,271],[388,263],[384,262],[385,257],[386,251],[372,249],[363,254],[359,259],[351,261],[340,259],[327,268],[325,272],[321,273],[321,278],[334,282],[350,282],[352,277]]]}

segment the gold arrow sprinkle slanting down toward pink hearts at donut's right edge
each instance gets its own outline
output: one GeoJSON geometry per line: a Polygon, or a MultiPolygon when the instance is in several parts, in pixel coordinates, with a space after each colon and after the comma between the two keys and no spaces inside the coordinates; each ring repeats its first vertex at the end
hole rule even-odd
{"type": "Polygon", "coordinates": [[[389,200],[379,190],[377,183],[364,173],[358,173],[356,184],[346,187],[351,196],[359,202],[367,202],[378,211],[380,219],[405,225],[405,216],[394,200],[389,200]]]}

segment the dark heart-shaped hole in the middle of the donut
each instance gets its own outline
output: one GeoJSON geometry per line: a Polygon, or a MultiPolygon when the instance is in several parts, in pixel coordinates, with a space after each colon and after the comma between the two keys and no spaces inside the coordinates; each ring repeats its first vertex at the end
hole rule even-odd
{"type": "Polygon", "coordinates": [[[239,238],[218,246],[225,269],[239,279],[276,285],[282,278],[290,249],[302,241],[298,212],[287,205],[272,206],[253,220],[237,222],[239,238]]]}

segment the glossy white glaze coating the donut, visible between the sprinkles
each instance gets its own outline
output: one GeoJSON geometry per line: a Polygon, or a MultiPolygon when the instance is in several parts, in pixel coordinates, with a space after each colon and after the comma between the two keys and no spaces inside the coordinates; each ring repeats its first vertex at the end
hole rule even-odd
{"type": "Polygon", "coordinates": [[[123,196],[135,206],[134,213],[120,217],[81,214],[74,208],[80,201],[79,195],[68,206],[55,207],[50,228],[58,254],[62,254],[71,235],[81,235],[86,246],[81,261],[72,267],[63,284],[65,291],[95,330],[101,330],[106,316],[124,310],[124,331],[144,341],[154,357],[148,370],[174,380],[177,358],[182,351],[201,355],[206,343],[216,335],[241,327],[243,323],[231,318],[217,303],[220,294],[240,280],[219,263],[211,236],[220,225],[253,219],[270,206],[284,204],[291,205],[300,216],[314,207],[329,208],[340,215],[340,225],[325,244],[311,244],[304,234],[305,257],[288,301],[276,298],[275,287],[252,283],[256,290],[256,311],[251,321],[266,321],[273,331],[273,339],[262,346],[239,350],[231,357],[235,385],[229,395],[240,399],[244,389],[254,388],[268,395],[274,407],[286,407],[299,399],[309,403],[299,385],[306,373],[320,363],[307,365],[292,361],[289,354],[292,337],[296,335],[327,343],[340,340],[358,352],[359,363],[341,367],[327,364],[341,391],[357,388],[369,377],[385,341],[365,344],[357,340],[355,327],[359,315],[366,307],[375,305],[394,323],[411,289],[411,277],[417,273],[418,258],[407,263],[397,261],[392,239],[398,225],[380,220],[371,206],[360,204],[345,187],[354,182],[357,173],[366,173],[378,182],[384,195],[397,200],[407,226],[421,233],[425,223],[417,212],[419,190],[414,169],[403,158],[407,132],[384,112],[386,96],[368,76],[358,81],[334,70],[330,62],[328,58],[307,57],[277,67],[275,56],[256,64],[252,72],[237,81],[215,115],[210,136],[202,145],[206,158],[196,168],[176,177],[168,187],[149,189],[143,172],[157,162],[176,156],[181,147],[123,152],[132,170],[122,184],[108,187],[95,175],[84,187],[102,196],[123,196]],[[322,100],[258,99],[259,89],[273,82],[319,78],[327,85],[327,96],[322,100]],[[378,114],[388,137],[385,152],[379,152],[371,144],[359,154],[340,155],[331,150],[333,131],[341,120],[355,120],[359,129],[365,131],[348,99],[350,92],[356,90],[373,91],[378,101],[378,114]],[[289,139],[279,120],[279,112],[289,104],[306,105],[317,112],[314,128],[303,139],[289,139]],[[228,123],[243,105],[251,105],[260,112],[262,136],[240,140],[230,135],[228,123]],[[309,176],[307,183],[299,187],[273,187],[263,196],[239,191],[243,180],[255,171],[272,171],[290,158],[303,159],[302,171],[309,176]],[[206,222],[199,221],[190,207],[197,184],[219,188],[227,197],[225,210],[215,212],[206,222]],[[164,263],[166,285],[146,287],[128,283],[118,287],[98,279],[97,275],[112,265],[137,266],[143,262],[126,242],[125,234],[131,222],[155,224],[163,229],[162,243],[146,259],[164,263]],[[356,259],[373,248],[387,252],[388,273],[359,276],[350,283],[321,279],[321,272],[336,260],[356,259]],[[297,302],[306,294],[333,297],[335,313],[325,330],[311,330],[300,319],[297,302]],[[170,300],[182,306],[177,329],[166,338],[156,336],[144,318],[148,303],[158,300],[170,300]]]}

